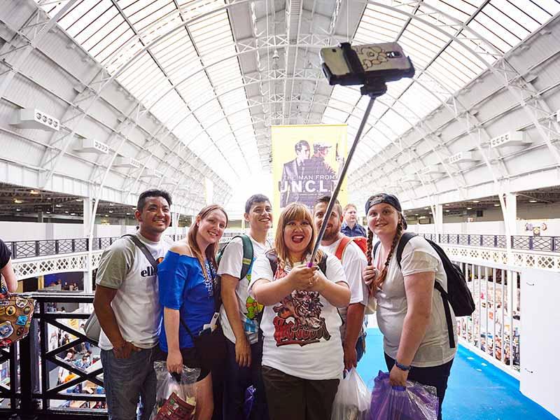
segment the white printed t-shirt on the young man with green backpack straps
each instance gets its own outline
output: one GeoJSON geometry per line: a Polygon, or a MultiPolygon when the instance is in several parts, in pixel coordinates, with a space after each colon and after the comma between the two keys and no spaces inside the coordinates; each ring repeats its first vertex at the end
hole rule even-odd
{"type": "MultiPolygon", "coordinates": [[[[251,244],[253,244],[253,262],[259,256],[265,253],[267,246],[258,243],[251,236],[251,244]]],[[[239,278],[241,274],[241,266],[243,260],[243,240],[240,237],[234,238],[230,241],[228,246],[223,251],[218,267],[218,274],[229,274],[239,278]]],[[[249,281],[251,281],[251,272],[253,267],[249,268],[247,275],[239,280],[235,294],[237,295],[237,306],[239,307],[239,316],[241,316],[241,323],[248,342],[255,344],[258,341],[258,321],[257,315],[262,310],[262,305],[258,305],[257,301],[248,293],[249,281]]],[[[235,334],[230,325],[228,314],[225,312],[225,307],[222,305],[220,308],[221,325],[223,334],[230,342],[235,343],[235,334]]]]}

